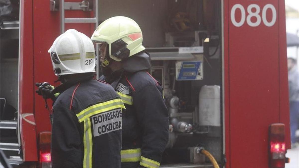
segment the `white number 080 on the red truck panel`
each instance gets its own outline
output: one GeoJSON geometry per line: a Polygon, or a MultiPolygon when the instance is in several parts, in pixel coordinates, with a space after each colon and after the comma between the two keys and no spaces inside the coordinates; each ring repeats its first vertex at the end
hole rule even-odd
{"type": "MultiPolygon", "coordinates": [[[[272,4],[266,4],[264,7],[263,7],[263,11],[262,11],[262,18],[261,16],[259,15],[260,13],[260,6],[257,5],[257,4],[251,4],[247,7],[247,12],[248,12],[248,16],[246,18],[246,22],[249,26],[252,26],[252,27],[256,27],[258,25],[260,25],[261,23],[261,20],[263,20],[263,23],[268,26],[268,27],[271,27],[275,24],[276,22],[276,9],[275,7],[272,5],[272,4]],[[252,9],[255,8],[255,12],[252,12],[252,9]],[[272,20],[271,22],[268,22],[267,21],[267,17],[266,17],[266,12],[268,9],[271,9],[272,10],[272,20]],[[251,18],[252,17],[255,17],[257,18],[256,22],[251,22],[251,18]]],[[[235,4],[232,8],[231,8],[231,22],[237,26],[237,27],[240,27],[244,24],[245,22],[245,9],[244,7],[241,5],[241,4],[235,4]],[[239,10],[241,10],[241,20],[239,22],[236,21],[236,18],[235,18],[235,13],[236,13],[236,10],[239,8],[239,10]]]]}

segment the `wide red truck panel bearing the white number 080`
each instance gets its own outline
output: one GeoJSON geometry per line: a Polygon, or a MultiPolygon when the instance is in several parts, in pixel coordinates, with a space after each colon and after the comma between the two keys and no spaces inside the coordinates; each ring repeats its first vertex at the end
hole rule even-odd
{"type": "MultiPolygon", "coordinates": [[[[268,127],[283,122],[289,129],[287,114],[287,69],[284,5],[279,0],[224,2],[225,38],[225,150],[227,167],[268,167],[268,127]],[[245,21],[233,24],[231,9],[244,7],[245,21]],[[256,18],[247,19],[247,8],[257,4],[261,22],[250,26],[256,18]],[[272,4],[276,22],[266,26],[262,10],[272,4]],[[239,6],[240,7],[240,6],[239,6]],[[248,24],[249,23],[249,24],[248,24]]],[[[241,21],[237,9],[235,20],[241,21]]],[[[256,10],[252,10],[255,12],[256,10]]],[[[266,11],[267,22],[272,19],[266,11]]],[[[286,136],[289,139],[288,135],[286,136]]]]}

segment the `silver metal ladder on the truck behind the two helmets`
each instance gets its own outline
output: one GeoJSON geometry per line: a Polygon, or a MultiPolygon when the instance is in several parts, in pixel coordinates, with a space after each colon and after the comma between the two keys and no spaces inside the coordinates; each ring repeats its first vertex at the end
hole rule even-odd
{"type": "MultiPolygon", "coordinates": [[[[65,23],[94,23],[94,30],[99,25],[99,4],[98,0],[83,0],[82,2],[65,2],[64,0],[50,0],[50,10],[57,11],[60,13],[60,33],[65,32],[65,23]],[[65,10],[83,10],[83,11],[94,11],[93,18],[65,18],[65,10]]],[[[96,56],[99,52],[98,44],[95,46],[96,56]]],[[[99,59],[96,57],[96,65],[99,65],[99,59]]],[[[97,71],[97,76],[99,72],[97,71]]]]}

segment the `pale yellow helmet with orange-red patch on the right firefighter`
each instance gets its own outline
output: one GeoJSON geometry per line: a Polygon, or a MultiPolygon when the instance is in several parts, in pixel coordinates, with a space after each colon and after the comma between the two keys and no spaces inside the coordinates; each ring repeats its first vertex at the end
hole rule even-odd
{"type": "Polygon", "coordinates": [[[109,46],[109,56],[115,61],[145,50],[140,27],[133,19],[124,16],[105,20],[94,31],[91,40],[94,43],[106,43],[109,46]]]}

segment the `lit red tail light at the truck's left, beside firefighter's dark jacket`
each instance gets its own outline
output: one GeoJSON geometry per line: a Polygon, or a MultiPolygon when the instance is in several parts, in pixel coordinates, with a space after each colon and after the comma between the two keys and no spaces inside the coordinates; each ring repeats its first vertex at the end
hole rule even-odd
{"type": "Polygon", "coordinates": [[[51,132],[39,134],[39,167],[51,167],[51,132]]]}

